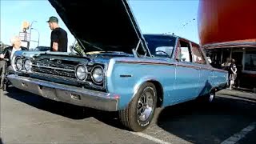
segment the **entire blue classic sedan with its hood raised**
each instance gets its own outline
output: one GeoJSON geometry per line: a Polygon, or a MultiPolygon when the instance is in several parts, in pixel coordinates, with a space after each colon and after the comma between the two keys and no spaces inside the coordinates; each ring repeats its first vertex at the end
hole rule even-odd
{"type": "Polygon", "coordinates": [[[226,86],[227,72],[210,66],[198,44],[175,35],[143,35],[125,0],[50,3],[86,54],[16,52],[16,74],[8,79],[18,89],[118,111],[124,126],[142,131],[157,107],[196,98],[212,102],[226,86]],[[80,16],[86,21],[77,22],[80,16]]]}

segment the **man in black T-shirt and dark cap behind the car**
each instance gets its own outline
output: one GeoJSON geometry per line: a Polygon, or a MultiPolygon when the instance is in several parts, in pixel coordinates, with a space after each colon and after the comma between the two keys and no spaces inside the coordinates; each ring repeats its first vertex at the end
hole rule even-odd
{"type": "Polygon", "coordinates": [[[47,21],[50,27],[50,50],[67,52],[67,34],[66,31],[58,26],[58,18],[50,17],[47,21]]]}

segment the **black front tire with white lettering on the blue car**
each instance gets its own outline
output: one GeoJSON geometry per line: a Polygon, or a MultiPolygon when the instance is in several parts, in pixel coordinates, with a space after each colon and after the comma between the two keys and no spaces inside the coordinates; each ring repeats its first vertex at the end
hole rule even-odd
{"type": "Polygon", "coordinates": [[[156,108],[156,104],[157,104],[157,90],[153,83],[146,82],[146,83],[142,84],[142,86],[140,86],[137,93],[134,95],[134,98],[129,103],[129,105],[126,107],[126,109],[119,111],[119,118],[120,118],[122,124],[124,126],[126,126],[129,130],[133,130],[133,131],[145,130],[148,126],[150,126],[150,123],[152,122],[152,119],[154,118],[154,111],[156,108]],[[144,105],[142,106],[143,102],[141,102],[140,100],[142,100],[141,98],[144,98],[144,100],[146,99],[146,95],[144,95],[144,97],[143,97],[143,94],[146,92],[149,92],[150,93],[149,95],[151,95],[150,97],[152,99],[148,99],[146,101],[150,102],[149,106],[152,106],[152,108],[150,109],[151,112],[150,112],[148,118],[146,118],[145,121],[142,121],[138,117],[138,115],[139,115],[138,107],[141,106],[140,111],[144,110],[143,109],[144,105]],[[139,104],[139,102],[140,102],[140,104],[139,104]]]}

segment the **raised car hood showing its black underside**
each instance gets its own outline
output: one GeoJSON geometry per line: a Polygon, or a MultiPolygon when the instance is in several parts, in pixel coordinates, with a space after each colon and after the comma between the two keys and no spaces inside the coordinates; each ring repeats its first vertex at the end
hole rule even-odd
{"type": "Polygon", "coordinates": [[[78,42],[89,51],[150,55],[126,0],[49,0],[78,42]],[[138,42],[140,44],[138,45],[138,42]]]}

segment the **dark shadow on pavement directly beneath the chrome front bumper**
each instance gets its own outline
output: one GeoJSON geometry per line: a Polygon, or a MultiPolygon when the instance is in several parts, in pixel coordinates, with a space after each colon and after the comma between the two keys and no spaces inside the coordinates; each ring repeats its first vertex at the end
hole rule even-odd
{"type": "Polygon", "coordinates": [[[56,102],[36,94],[18,90],[15,87],[10,87],[8,91],[11,91],[6,94],[9,98],[24,102],[27,105],[34,106],[40,110],[45,110],[50,113],[72,119],[96,118],[98,121],[106,123],[107,125],[114,126],[122,130],[125,129],[118,120],[117,112],[107,112],[83,106],[75,106],[65,102],[56,102]]]}

